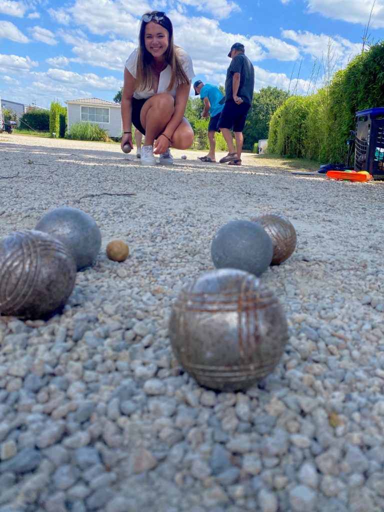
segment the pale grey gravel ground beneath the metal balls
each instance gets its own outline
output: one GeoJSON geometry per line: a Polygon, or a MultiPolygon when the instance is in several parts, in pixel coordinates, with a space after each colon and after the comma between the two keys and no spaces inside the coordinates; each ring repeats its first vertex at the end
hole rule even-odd
{"type": "Polygon", "coordinates": [[[62,314],[0,317],[0,512],[384,510],[384,183],[4,134],[0,152],[2,237],[57,206],[102,233],[62,314]],[[261,276],[289,342],[258,385],[215,393],[177,365],[170,308],[224,223],[267,212],[297,232],[261,276]]]}

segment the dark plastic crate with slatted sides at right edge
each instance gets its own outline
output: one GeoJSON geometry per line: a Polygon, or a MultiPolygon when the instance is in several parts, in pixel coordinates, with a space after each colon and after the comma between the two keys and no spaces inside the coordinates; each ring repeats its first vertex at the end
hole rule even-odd
{"type": "Polygon", "coordinates": [[[384,180],[384,107],[356,112],[355,170],[384,180]]]}

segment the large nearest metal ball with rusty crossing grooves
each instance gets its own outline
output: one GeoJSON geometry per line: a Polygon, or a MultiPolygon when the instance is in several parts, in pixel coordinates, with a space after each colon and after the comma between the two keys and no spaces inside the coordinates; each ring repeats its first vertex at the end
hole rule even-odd
{"type": "Polygon", "coordinates": [[[282,305],[258,278],[220,269],[181,290],[169,338],[176,359],[200,385],[238,391],[274,370],[288,328],[282,305]]]}

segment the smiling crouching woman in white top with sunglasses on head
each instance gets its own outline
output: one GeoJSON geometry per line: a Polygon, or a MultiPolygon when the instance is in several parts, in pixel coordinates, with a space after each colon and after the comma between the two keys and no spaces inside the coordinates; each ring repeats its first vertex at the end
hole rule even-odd
{"type": "Polygon", "coordinates": [[[191,58],[174,45],[173,26],[164,12],[143,14],[139,47],[125,62],[121,95],[121,148],[132,143],[132,123],[145,136],[142,165],[172,164],[170,146],[186,150],[194,140],[184,117],[191,79],[191,58]]]}

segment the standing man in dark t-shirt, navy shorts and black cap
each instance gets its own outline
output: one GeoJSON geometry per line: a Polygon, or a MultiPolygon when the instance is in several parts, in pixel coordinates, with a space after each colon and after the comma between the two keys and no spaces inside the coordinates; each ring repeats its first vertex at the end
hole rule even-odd
{"type": "Polygon", "coordinates": [[[228,53],[232,61],[227,69],[225,105],[219,120],[220,130],[228,144],[228,155],[222,158],[220,163],[229,165],[241,165],[243,130],[253,97],[254,68],[244,51],[244,45],[241,42],[235,42],[228,53]],[[236,150],[231,130],[234,132],[236,150]]]}

